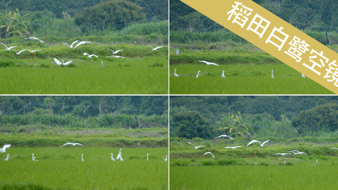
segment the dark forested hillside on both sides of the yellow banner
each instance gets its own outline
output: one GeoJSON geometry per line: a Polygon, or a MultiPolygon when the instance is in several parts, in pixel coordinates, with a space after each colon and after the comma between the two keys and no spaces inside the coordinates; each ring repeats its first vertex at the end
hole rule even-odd
{"type": "MultiPolygon", "coordinates": [[[[298,29],[338,30],[337,0],[253,0],[298,29]]],[[[170,0],[170,29],[201,30],[215,22],[181,2],[170,0]]]]}

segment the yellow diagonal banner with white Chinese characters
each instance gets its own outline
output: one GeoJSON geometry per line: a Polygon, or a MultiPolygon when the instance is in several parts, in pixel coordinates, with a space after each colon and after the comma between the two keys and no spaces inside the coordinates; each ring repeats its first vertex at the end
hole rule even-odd
{"type": "Polygon", "coordinates": [[[181,0],[338,94],[338,54],[252,0],[181,0]]]}

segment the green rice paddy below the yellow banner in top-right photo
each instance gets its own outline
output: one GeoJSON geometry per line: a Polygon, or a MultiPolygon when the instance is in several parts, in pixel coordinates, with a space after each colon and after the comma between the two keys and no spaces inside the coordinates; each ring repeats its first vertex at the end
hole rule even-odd
{"type": "Polygon", "coordinates": [[[286,64],[170,64],[169,73],[171,95],[333,94],[286,64]],[[174,69],[179,77],[173,76],[174,69]],[[221,77],[223,70],[225,78],[221,77]]]}

